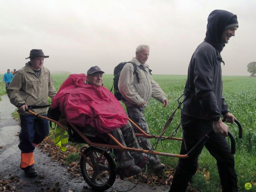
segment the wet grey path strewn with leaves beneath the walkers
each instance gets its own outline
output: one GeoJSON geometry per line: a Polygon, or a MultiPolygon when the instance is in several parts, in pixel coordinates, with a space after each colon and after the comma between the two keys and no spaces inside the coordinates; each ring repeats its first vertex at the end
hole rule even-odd
{"type": "MultiPolygon", "coordinates": [[[[1,96],[0,102],[0,182],[10,181],[13,191],[18,192],[94,192],[82,177],[71,178],[66,167],[53,162],[50,157],[38,148],[34,151],[35,165],[38,171],[36,178],[28,178],[20,169],[20,150],[18,148],[18,132],[20,126],[12,118],[15,107],[10,104],[7,95],[1,96]]],[[[116,179],[113,187],[117,190],[128,190],[134,186],[129,181],[116,179]]],[[[138,184],[130,192],[166,192],[165,186],[150,187],[147,184],[138,184]]],[[[1,190],[2,191],[2,190],[1,190]]],[[[6,190],[12,191],[12,190],[6,190]]],[[[114,190],[109,189],[107,192],[114,190]]]]}

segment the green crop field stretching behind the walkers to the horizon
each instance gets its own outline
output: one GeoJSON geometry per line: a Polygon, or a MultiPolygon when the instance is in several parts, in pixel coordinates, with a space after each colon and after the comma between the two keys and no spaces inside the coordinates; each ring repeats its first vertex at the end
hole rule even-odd
{"type": "MultiPolygon", "coordinates": [[[[54,86],[57,90],[67,76],[68,75],[52,75],[54,86]]],[[[110,90],[113,76],[104,74],[103,78],[104,86],[110,90]]],[[[151,99],[144,112],[151,134],[159,135],[166,120],[178,105],[177,98],[183,92],[186,76],[154,75],[153,78],[160,84],[169,100],[168,107],[163,108],[160,102],[151,99]]],[[[4,84],[1,84],[0,94],[4,92],[4,84]]],[[[239,191],[246,191],[244,184],[250,182],[252,188],[249,191],[256,192],[256,78],[224,76],[223,96],[226,99],[230,112],[236,116],[243,126],[243,138],[239,139],[237,126],[235,124],[229,124],[230,132],[232,132],[236,139],[236,154],[234,156],[239,191]]],[[[165,135],[170,136],[179,122],[180,111],[178,110],[174,120],[166,130],[165,135]]],[[[182,137],[181,128],[178,129],[176,137],[182,137]]],[[[152,144],[154,144],[154,142],[155,140],[152,139],[152,144]]],[[[180,141],[166,140],[162,145],[159,143],[157,150],[179,154],[180,144],[180,141]]],[[[164,164],[173,168],[175,168],[178,163],[178,158],[164,156],[160,156],[160,158],[164,164]]],[[[192,185],[198,192],[220,192],[220,181],[216,161],[206,149],[204,149],[199,156],[198,171],[192,179],[192,185]]]]}

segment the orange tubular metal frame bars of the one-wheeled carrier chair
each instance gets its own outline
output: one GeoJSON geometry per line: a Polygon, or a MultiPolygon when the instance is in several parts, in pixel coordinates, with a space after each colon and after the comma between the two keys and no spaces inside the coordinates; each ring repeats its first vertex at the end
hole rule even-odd
{"type": "MultiPolygon", "coordinates": [[[[63,130],[66,130],[66,128],[64,128],[64,126],[62,126],[59,122],[52,120],[50,118],[41,116],[36,114],[34,111],[32,110],[28,110],[28,112],[30,112],[31,114],[38,116],[39,118],[43,118],[46,119],[48,121],[54,122],[56,124],[58,124],[58,126],[60,126],[60,128],[62,128],[63,130]]],[[[147,134],[146,132],[144,132],[138,125],[136,125],[130,118],[128,118],[128,120],[139,130],[139,132],[141,132],[141,134],[135,134],[136,136],[139,137],[144,137],[144,138],[159,138],[160,136],[154,136],[154,135],[150,135],[147,134]]],[[[106,133],[112,140],[114,140],[114,142],[116,142],[117,145],[109,145],[109,144],[100,144],[100,143],[95,143],[95,142],[91,142],[88,137],[86,137],[82,131],[80,131],[75,125],[69,123],[70,126],[72,126],[72,128],[86,141],[86,143],[88,143],[90,146],[95,146],[95,147],[103,147],[103,148],[112,148],[112,149],[117,149],[117,150],[128,150],[128,151],[134,151],[134,152],[140,152],[140,153],[146,153],[146,154],[156,154],[156,155],[163,155],[163,156],[168,156],[168,157],[177,157],[177,158],[187,158],[188,154],[185,155],[180,155],[180,154],[172,154],[172,153],[164,153],[164,152],[158,152],[158,151],[152,151],[152,150],[143,150],[143,149],[137,149],[137,148],[130,148],[130,147],[125,147],[123,146],[118,140],[116,140],[116,138],[114,138],[114,136],[112,136],[110,133],[106,133]]],[[[167,138],[170,140],[179,140],[182,141],[182,138],[174,138],[174,137],[165,137],[162,136],[162,138],[167,138]]]]}

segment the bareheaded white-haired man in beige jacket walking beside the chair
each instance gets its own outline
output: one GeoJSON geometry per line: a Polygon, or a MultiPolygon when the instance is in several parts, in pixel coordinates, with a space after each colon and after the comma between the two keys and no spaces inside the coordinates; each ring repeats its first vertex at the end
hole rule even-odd
{"type": "MultiPolygon", "coordinates": [[[[148,45],[138,46],[136,48],[136,57],[132,58],[130,61],[135,66],[132,63],[125,64],[118,81],[118,89],[124,98],[122,102],[126,105],[129,118],[148,134],[150,131],[143,112],[150,98],[153,97],[160,101],[164,104],[164,107],[168,105],[164,91],[160,88],[158,83],[152,79],[151,70],[146,64],[149,50],[148,45]],[[134,69],[136,69],[136,75],[134,74],[134,69]]],[[[137,132],[136,128],[134,128],[134,131],[137,132]]],[[[139,138],[138,142],[145,150],[152,148],[149,139],[139,138]]],[[[162,170],[165,165],[160,163],[160,159],[157,155],[152,156],[155,158],[155,164],[151,168],[155,171],[162,170]]]]}

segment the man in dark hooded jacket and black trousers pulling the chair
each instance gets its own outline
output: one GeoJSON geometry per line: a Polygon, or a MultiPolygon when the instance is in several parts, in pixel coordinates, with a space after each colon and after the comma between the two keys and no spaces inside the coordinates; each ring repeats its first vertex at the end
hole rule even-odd
{"type": "MultiPolygon", "coordinates": [[[[217,161],[222,192],[238,191],[234,156],[225,139],[228,125],[220,118],[223,116],[226,122],[231,123],[235,119],[222,98],[221,62],[224,61],[220,52],[230,37],[235,36],[237,28],[237,17],[231,12],[214,10],[210,13],[204,42],[196,48],[188,66],[181,116],[183,141],[180,154],[186,154],[205,134],[214,130],[204,146],[217,161]]],[[[179,160],[171,192],[186,192],[204,146],[198,148],[195,155],[179,160]]]]}

